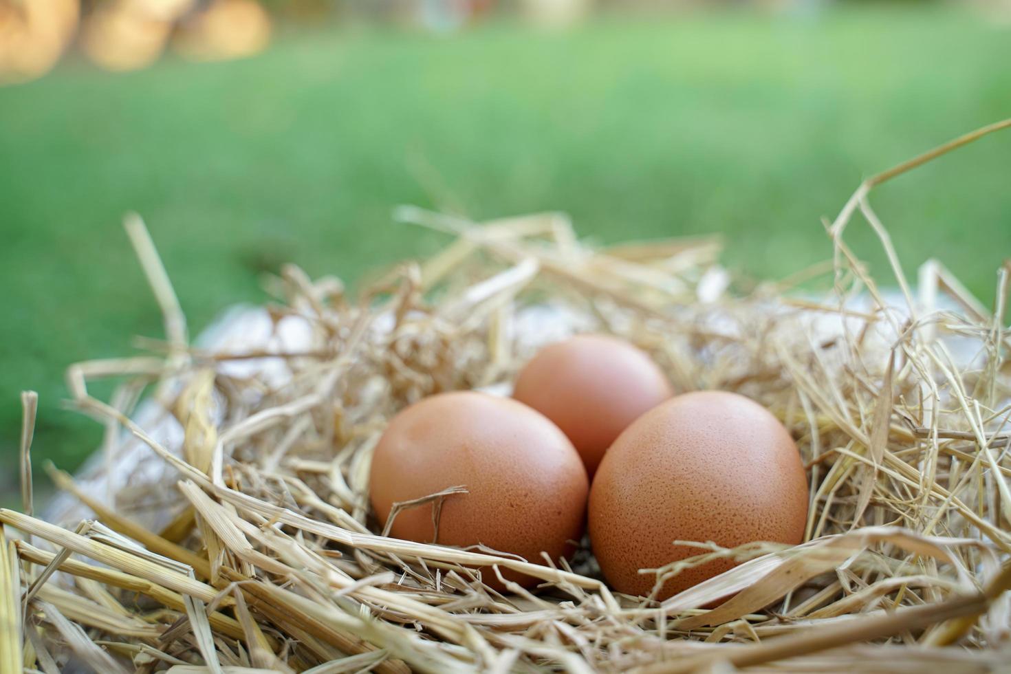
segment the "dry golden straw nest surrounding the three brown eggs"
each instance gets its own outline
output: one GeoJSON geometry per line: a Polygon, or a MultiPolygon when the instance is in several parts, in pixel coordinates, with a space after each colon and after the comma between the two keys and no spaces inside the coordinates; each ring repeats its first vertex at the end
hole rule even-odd
{"type": "Polygon", "coordinates": [[[25,512],[0,511],[0,671],[999,668],[1011,636],[1011,267],[995,311],[937,263],[914,297],[867,194],[1006,126],[864,182],[825,223],[832,264],[747,292],[727,289],[715,239],[594,250],[557,215],[474,224],[402,209],[455,239],[357,300],[336,279],[286,269],[270,311],[277,325],[307,326],[297,352],[189,346],[151,239],[129,219],[168,339],[149,357],[74,366],[68,380],[74,404],[109,429],[108,470],[139,442],[168,470],[112,502],[54,472],[94,515],[66,527],[32,516],[25,396],[25,512]],[[892,261],[891,300],[845,243],[856,211],[892,261]],[[813,277],[823,296],[797,289],[813,277]],[[806,543],[697,542],[697,558],[645,573],[742,563],[657,602],[610,591],[585,541],[570,563],[548,565],[383,537],[367,475],[385,421],[437,391],[512,381],[535,346],[522,333],[531,311],[631,340],[681,391],[767,406],[807,464],[806,543]],[[226,367],[252,359],[271,374],[226,367]],[[111,401],[90,396],[88,381],[108,376],[125,377],[111,401]],[[151,384],[179,442],[131,420],[151,384]],[[155,506],[164,527],[143,523],[155,506]],[[543,583],[499,594],[480,574],[500,569],[543,583]]]}

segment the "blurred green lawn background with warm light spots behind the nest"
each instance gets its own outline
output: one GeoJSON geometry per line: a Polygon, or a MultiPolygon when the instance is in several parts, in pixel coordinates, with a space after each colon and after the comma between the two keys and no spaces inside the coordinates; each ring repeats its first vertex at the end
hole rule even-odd
{"type": "MultiPolygon", "coordinates": [[[[780,278],[829,256],[862,178],[1011,116],[1011,2],[0,0],[0,79],[8,500],[18,392],[35,461],[73,470],[100,429],[62,407],[65,368],[163,336],[126,211],[193,333],[284,262],[353,285],[445,244],[401,203],[724,232],[728,266],[780,278]]],[[[914,276],[937,257],[993,300],[1011,133],[872,200],[914,276]]]]}

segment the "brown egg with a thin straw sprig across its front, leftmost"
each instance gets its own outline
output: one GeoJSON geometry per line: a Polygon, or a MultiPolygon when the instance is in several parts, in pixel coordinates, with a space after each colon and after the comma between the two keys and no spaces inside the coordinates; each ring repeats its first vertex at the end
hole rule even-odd
{"type": "MultiPolygon", "coordinates": [[[[369,476],[381,523],[397,501],[463,485],[443,501],[438,539],[433,507],[401,510],[390,536],[445,546],[481,544],[543,564],[578,541],[589,481],[572,448],[543,414],[509,398],[463,391],[426,398],[394,416],[376,446],[369,476]]],[[[536,579],[502,570],[510,580],[536,579]]],[[[501,589],[494,572],[482,579],[501,589]]]]}

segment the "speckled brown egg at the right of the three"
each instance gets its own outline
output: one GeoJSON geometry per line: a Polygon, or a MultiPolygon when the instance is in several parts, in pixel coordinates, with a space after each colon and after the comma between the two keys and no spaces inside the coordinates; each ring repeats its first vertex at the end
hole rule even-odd
{"type": "MultiPolygon", "coordinates": [[[[589,537],[608,582],[643,595],[656,576],[639,569],[706,552],[674,541],[796,545],[807,514],[807,476],[783,424],[744,396],[706,391],[659,405],[614,444],[590,489],[589,537]]],[[[687,569],[658,597],[733,566],[720,560],[687,569]]]]}

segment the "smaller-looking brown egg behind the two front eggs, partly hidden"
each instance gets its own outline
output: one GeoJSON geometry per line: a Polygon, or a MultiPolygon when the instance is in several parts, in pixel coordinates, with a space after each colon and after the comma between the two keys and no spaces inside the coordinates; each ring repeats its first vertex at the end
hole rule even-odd
{"type": "Polygon", "coordinates": [[[606,334],[580,334],[538,352],[520,372],[513,397],[557,423],[592,476],[618,436],[672,394],[639,349],[606,334]]]}

